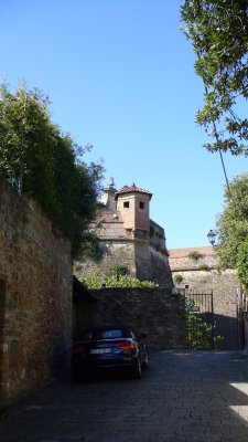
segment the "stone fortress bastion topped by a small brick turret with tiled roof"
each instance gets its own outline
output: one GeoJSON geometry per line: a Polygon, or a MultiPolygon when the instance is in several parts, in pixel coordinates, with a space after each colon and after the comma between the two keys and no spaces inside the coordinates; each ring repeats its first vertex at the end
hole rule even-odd
{"type": "Polygon", "coordinates": [[[152,193],[132,186],[104,188],[101,207],[91,227],[99,242],[99,259],[77,263],[75,273],[108,272],[114,265],[127,267],[141,281],[172,287],[164,229],[150,219],[152,193]]]}

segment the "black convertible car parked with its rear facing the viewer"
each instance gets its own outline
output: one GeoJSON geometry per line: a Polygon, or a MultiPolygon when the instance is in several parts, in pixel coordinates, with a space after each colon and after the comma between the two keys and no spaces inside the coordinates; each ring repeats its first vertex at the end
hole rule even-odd
{"type": "Polygon", "coordinates": [[[137,335],[132,327],[108,325],[82,333],[72,350],[72,379],[78,382],[85,375],[123,371],[133,378],[148,368],[147,335],[137,335]]]}

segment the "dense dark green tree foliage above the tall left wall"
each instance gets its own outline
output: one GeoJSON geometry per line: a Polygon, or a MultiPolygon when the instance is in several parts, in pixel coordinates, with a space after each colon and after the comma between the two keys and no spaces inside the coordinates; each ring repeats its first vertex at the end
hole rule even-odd
{"type": "Polygon", "coordinates": [[[82,160],[84,149],[52,123],[48,105],[39,90],[0,87],[0,178],[40,202],[76,256],[95,215],[103,167],[82,160]]]}

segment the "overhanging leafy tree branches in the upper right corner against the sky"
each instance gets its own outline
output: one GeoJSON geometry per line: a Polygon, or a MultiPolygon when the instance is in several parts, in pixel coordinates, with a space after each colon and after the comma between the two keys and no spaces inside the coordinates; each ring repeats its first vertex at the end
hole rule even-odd
{"type": "Polygon", "coordinates": [[[236,106],[238,97],[248,97],[248,0],[185,0],[181,15],[205,87],[196,114],[214,138],[205,147],[248,155],[248,119],[236,106]]]}

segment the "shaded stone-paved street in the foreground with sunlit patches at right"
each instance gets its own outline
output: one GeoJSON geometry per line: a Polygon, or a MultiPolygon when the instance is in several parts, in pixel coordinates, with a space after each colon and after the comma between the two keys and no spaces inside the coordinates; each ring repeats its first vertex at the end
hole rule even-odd
{"type": "Polygon", "coordinates": [[[0,422],[1,442],[247,442],[248,358],[152,352],[141,380],[61,379],[0,422]]]}

